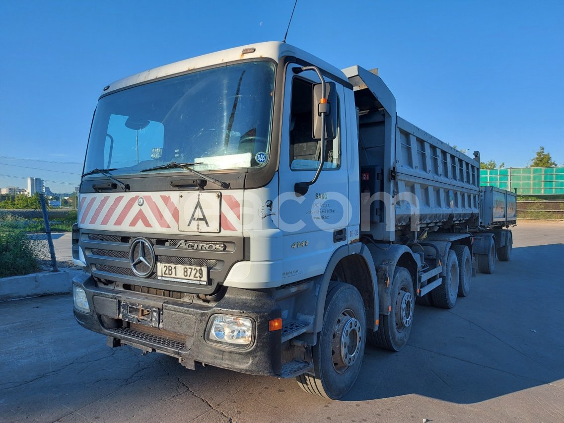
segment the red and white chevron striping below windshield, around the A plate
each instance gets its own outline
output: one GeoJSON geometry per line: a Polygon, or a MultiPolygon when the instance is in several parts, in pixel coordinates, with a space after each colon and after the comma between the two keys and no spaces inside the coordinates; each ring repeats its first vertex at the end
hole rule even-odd
{"type": "MultiPolygon", "coordinates": [[[[78,205],[80,227],[89,229],[177,232],[179,215],[177,193],[81,194],[78,205]]],[[[221,230],[242,230],[241,202],[236,195],[222,195],[221,230]]]]}

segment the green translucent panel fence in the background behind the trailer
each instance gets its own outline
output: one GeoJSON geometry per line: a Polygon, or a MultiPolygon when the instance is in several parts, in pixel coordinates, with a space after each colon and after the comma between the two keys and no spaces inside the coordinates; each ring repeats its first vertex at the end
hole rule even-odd
{"type": "Polygon", "coordinates": [[[480,184],[509,191],[517,188],[517,195],[564,195],[564,166],[481,169],[480,184]]]}

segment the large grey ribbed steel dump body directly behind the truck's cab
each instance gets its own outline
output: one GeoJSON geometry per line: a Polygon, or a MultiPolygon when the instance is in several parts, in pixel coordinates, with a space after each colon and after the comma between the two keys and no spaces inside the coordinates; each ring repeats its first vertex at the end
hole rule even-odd
{"type": "Polygon", "coordinates": [[[395,230],[476,224],[479,160],[396,116],[395,99],[377,75],[358,66],[343,70],[354,85],[358,108],[361,174],[380,174],[361,185],[380,204],[371,206],[371,234],[393,241],[395,230]],[[393,222],[393,224],[392,224],[393,222]],[[393,226],[393,227],[392,227],[393,226]]]}

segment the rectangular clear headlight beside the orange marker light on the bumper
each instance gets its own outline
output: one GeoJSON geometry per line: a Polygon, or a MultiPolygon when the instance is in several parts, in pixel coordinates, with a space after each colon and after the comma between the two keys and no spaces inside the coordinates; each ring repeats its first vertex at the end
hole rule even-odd
{"type": "Polygon", "coordinates": [[[216,314],[208,324],[208,341],[243,348],[253,340],[253,322],[247,318],[216,314]]]}

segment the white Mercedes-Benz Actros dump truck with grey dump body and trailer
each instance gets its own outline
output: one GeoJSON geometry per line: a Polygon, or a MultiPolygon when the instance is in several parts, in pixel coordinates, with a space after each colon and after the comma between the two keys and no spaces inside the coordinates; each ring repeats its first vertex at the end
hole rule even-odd
{"type": "Polygon", "coordinates": [[[111,347],[340,398],[365,342],[406,345],[416,299],[449,309],[474,256],[509,259],[494,193],[359,66],[265,42],[147,70],[94,113],[74,315],[111,347]]]}

